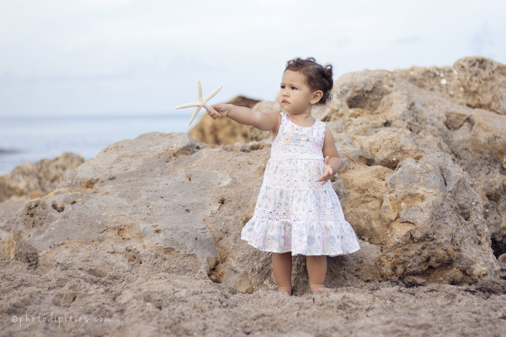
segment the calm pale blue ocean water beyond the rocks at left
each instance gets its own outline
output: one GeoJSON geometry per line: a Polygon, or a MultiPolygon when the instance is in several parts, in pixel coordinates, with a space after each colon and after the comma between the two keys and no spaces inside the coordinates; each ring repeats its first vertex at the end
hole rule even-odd
{"type": "Polygon", "coordinates": [[[94,158],[116,141],[133,139],[140,134],[188,132],[191,114],[129,117],[24,117],[0,119],[0,174],[17,165],[43,158],[53,159],[73,152],[85,160],[94,158]]]}

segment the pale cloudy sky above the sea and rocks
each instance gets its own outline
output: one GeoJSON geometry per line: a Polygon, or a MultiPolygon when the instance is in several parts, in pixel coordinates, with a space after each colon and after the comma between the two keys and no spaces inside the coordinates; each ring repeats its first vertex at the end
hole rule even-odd
{"type": "Polygon", "coordinates": [[[364,69],[506,64],[505,1],[0,0],[0,118],[187,112],[274,100],[287,60],[364,69]],[[503,41],[503,42],[500,42],[503,41]]]}

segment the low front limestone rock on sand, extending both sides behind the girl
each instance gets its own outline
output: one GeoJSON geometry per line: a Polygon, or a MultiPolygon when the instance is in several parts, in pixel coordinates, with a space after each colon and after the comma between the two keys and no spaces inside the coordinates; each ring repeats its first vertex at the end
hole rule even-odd
{"type": "MultiPolygon", "coordinates": [[[[329,259],[329,284],[348,278],[496,278],[469,175],[431,137],[383,132],[336,137],[345,165],[333,186],[362,249],[329,259]],[[391,139],[378,162],[395,153],[395,170],[374,165],[369,151],[378,137],[391,139]],[[404,141],[411,147],[397,150],[404,141]],[[423,157],[412,159],[413,152],[423,157]]],[[[26,203],[4,249],[34,267],[79,268],[106,278],[171,272],[210,277],[241,291],[272,288],[270,255],[240,239],[262,184],[268,145],[234,152],[183,133],[158,132],[114,143],[66,171],[54,192],[26,203]]],[[[294,259],[293,277],[302,284],[304,265],[302,256],[294,259]]]]}

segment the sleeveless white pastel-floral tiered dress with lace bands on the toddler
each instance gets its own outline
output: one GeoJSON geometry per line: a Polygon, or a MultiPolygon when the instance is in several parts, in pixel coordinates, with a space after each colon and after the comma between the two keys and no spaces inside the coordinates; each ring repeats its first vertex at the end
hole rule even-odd
{"type": "Polygon", "coordinates": [[[338,195],[323,175],[325,123],[294,124],[281,113],[255,213],[241,239],[264,252],[291,255],[350,254],[360,249],[338,195]]]}

